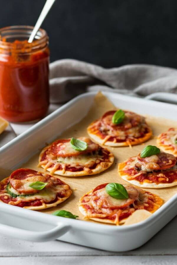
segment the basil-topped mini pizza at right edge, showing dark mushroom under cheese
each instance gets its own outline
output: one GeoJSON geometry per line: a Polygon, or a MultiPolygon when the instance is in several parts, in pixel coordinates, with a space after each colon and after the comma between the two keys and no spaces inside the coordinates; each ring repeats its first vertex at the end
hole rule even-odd
{"type": "Polygon", "coordinates": [[[142,188],[167,188],[177,185],[176,157],[160,151],[157,147],[153,148],[159,152],[147,157],[141,157],[141,153],[119,163],[119,175],[142,188]]]}

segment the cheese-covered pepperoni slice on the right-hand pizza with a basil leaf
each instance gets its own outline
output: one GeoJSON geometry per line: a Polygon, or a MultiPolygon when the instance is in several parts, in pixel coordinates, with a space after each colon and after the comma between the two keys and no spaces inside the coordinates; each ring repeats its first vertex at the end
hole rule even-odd
{"type": "Polygon", "coordinates": [[[139,154],[137,160],[138,163],[136,164],[136,167],[139,167],[139,169],[147,168],[147,171],[165,170],[176,165],[176,157],[164,152],[146,158],[141,158],[139,154]]]}

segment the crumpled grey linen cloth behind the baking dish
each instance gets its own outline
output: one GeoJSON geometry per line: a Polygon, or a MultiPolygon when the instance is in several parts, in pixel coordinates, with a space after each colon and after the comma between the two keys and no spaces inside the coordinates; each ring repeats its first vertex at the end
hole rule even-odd
{"type": "Polygon", "coordinates": [[[73,59],[50,64],[50,102],[63,103],[86,91],[114,91],[143,97],[177,93],[177,70],[148,64],[105,69],[73,59]]]}

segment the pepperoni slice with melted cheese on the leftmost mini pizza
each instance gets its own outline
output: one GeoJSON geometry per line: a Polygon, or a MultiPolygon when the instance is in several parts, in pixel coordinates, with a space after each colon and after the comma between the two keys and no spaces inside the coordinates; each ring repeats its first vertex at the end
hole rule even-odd
{"type": "Polygon", "coordinates": [[[42,175],[42,173],[37,172],[36,170],[28,168],[20,168],[15,170],[10,175],[10,184],[18,192],[23,194],[33,194],[37,193],[38,190],[31,188],[29,185],[36,181],[41,181],[48,183],[47,186],[51,187],[53,185],[52,180],[48,176],[42,175]],[[25,181],[24,181],[25,180],[25,181]]]}

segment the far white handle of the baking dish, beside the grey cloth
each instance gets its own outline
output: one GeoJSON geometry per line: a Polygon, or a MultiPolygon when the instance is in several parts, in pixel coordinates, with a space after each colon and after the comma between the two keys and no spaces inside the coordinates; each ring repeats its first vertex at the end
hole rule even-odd
{"type": "Polygon", "coordinates": [[[164,102],[169,102],[172,104],[177,104],[177,95],[167,92],[156,92],[145,97],[148,100],[159,100],[164,102]]]}

